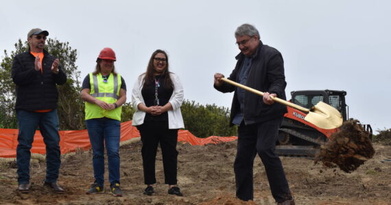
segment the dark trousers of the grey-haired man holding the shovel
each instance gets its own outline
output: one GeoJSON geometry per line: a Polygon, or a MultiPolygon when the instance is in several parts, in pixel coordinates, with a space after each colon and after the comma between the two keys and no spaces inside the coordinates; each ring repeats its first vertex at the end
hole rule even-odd
{"type": "Polygon", "coordinates": [[[248,201],[254,198],[252,167],[256,154],[261,157],[276,202],[291,200],[287,179],[279,156],[274,152],[283,118],[245,125],[238,129],[237,154],[234,163],[236,195],[248,201]]]}

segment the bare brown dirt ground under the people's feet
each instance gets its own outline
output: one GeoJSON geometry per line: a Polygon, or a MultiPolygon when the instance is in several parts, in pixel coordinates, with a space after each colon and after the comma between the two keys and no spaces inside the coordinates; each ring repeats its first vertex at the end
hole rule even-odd
{"type": "MultiPolygon", "coordinates": [[[[382,162],[391,159],[391,146],[374,144],[374,148],[375,156],[351,174],[313,165],[311,159],[281,157],[296,204],[391,204],[391,162],[382,162]]],[[[93,182],[92,154],[86,151],[63,156],[58,180],[66,191],[63,194],[43,187],[45,162],[32,163],[32,191],[27,194],[16,191],[15,163],[1,164],[0,204],[276,204],[259,157],[254,162],[254,202],[235,198],[236,141],[207,146],[178,143],[178,151],[178,185],[183,197],[167,194],[160,151],[156,193],[143,195],[141,142],[137,141],[121,147],[123,197],[110,195],[108,182],[106,193],[85,194],[93,182]]]]}

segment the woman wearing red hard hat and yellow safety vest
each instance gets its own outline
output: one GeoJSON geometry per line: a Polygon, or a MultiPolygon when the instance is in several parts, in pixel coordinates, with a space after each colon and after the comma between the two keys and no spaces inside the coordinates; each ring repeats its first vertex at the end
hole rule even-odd
{"type": "Polygon", "coordinates": [[[104,148],[108,159],[110,192],[122,196],[119,187],[119,138],[121,135],[121,105],[126,102],[126,84],[115,71],[115,52],[104,48],[97,57],[95,71],[89,73],[82,84],[85,102],[86,127],[93,148],[95,182],[86,191],[104,192],[104,148]]]}

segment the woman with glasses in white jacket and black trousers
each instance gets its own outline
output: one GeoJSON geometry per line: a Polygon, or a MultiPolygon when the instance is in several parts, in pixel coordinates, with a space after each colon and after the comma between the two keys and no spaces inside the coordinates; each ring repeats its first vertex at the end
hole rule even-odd
{"type": "Polygon", "coordinates": [[[184,128],[180,106],[183,102],[182,83],[169,72],[165,51],[152,53],[147,71],[139,76],[132,90],[132,105],[137,109],[132,125],[140,131],[143,148],[145,195],[154,193],[156,150],[160,143],[168,193],[182,196],[177,184],[178,129],[184,128]]]}

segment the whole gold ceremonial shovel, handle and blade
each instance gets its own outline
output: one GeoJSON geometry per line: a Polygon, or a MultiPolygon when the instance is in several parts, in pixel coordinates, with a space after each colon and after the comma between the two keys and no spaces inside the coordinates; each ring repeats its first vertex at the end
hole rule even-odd
{"type": "MultiPolygon", "coordinates": [[[[230,81],[226,78],[221,78],[222,81],[226,83],[230,83],[231,85],[235,85],[237,87],[241,87],[244,90],[247,90],[248,92],[252,92],[254,94],[263,96],[263,92],[260,92],[259,90],[255,90],[251,87],[247,87],[246,85],[241,85],[239,83],[236,83],[234,81],[230,81]]],[[[312,124],[315,124],[316,126],[324,129],[332,129],[337,128],[342,125],[342,115],[337,109],[332,107],[331,105],[327,105],[326,103],[320,101],[318,104],[314,105],[311,109],[307,109],[305,107],[301,107],[299,105],[296,105],[292,102],[288,102],[286,100],[282,100],[277,97],[270,96],[275,102],[279,102],[283,105],[292,107],[294,109],[298,109],[300,111],[303,111],[307,113],[304,120],[307,122],[311,122],[312,124]]]]}

